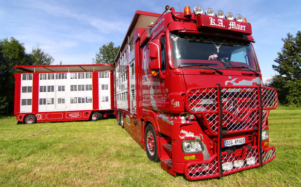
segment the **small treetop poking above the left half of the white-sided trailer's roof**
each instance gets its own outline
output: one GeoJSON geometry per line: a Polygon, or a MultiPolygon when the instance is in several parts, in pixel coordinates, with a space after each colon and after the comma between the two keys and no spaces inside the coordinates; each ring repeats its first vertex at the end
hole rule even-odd
{"type": "Polygon", "coordinates": [[[54,58],[50,54],[39,48],[39,45],[33,48],[33,51],[29,54],[31,64],[34,66],[38,65],[52,65],[54,58]]]}

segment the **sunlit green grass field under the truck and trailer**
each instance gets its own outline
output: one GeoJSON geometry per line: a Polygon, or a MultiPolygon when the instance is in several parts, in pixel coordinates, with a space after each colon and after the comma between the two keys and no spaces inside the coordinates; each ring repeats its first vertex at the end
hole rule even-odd
{"type": "Polygon", "coordinates": [[[282,187],[301,186],[301,108],[269,116],[276,158],[263,168],[188,181],[151,162],[116,119],[18,124],[0,119],[1,187],[282,187]]]}

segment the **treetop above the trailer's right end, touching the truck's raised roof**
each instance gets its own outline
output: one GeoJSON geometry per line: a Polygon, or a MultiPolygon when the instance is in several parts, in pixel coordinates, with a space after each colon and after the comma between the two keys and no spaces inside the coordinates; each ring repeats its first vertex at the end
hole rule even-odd
{"type": "Polygon", "coordinates": [[[102,45],[100,51],[96,53],[93,64],[113,64],[120,46],[114,47],[114,43],[110,42],[107,45],[102,45]]]}

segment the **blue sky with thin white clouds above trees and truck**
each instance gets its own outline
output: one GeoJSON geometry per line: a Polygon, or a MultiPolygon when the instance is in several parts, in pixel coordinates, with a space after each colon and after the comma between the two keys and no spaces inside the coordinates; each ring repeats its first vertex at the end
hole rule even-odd
{"type": "MultiPolygon", "coordinates": [[[[272,64],[287,33],[301,30],[301,0],[179,0],[214,11],[241,14],[252,25],[263,77],[276,74],[272,64]]],[[[0,39],[15,37],[26,52],[39,47],[54,64],[91,64],[99,48],[121,44],[136,10],[163,13],[165,5],[180,11],[178,0],[0,0],[0,39]]]]}

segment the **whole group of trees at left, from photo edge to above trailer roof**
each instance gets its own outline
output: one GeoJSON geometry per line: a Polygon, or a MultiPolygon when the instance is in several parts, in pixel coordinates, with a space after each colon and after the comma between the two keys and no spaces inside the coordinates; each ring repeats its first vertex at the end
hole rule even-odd
{"type": "Polygon", "coordinates": [[[0,115],[14,112],[14,74],[21,72],[14,66],[51,65],[53,62],[53,57],[38,45],[28,54],[24,43],[14,37],[0,39],[0,115]]]}

